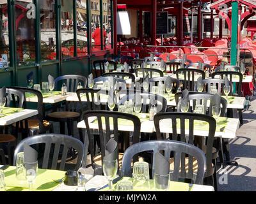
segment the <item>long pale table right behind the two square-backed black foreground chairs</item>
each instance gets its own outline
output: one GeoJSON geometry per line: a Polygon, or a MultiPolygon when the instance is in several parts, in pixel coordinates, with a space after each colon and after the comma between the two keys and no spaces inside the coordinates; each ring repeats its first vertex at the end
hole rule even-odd
{"type": "MultiPolygon", "coordinates": [[[[140,113],[139,118],[141,120],[141,133],[154,133],[156,129],[154,127],[154,121],[149,120],[148,113],[140,113]],[[142,116],[146,118],[141,119],[142,116]]],[[[89,126],[91,129],[99,129],[96,117],[90,117],[88,119],[89,126]]],[[[236,132],[239,128],[239,119],[224,118],[220,117],[217,122],[215,137],[234,139],[236,138],[236,132]]],[[[77,128],[86,129],[84,120],[77,124],[77,128]]],[[[104,125],[102,127],[105,128],[104,125]]],[[[113,122],[110,122],[110,129],[113,129],[113,122]]],[[[134,126],[129,120],[120,119],[118,121],[118,131],[130,131],[132,132],[134,126]]],[[[194,126],[194,134],[197,136],[207,136],[208,135],[208,124],[203,122],[197,122],[194,126]]],[[[162,133],[172,133],[172,122],[170,120],[163,120],[160,122],[160,130],[162,133]]],[[[186,125],[185,133],[188,135],[188,125],[186,125]]],[[[180,133],[179,126],[177,126],[177,132],[180,133]]]]}

